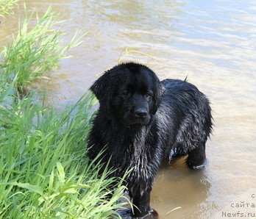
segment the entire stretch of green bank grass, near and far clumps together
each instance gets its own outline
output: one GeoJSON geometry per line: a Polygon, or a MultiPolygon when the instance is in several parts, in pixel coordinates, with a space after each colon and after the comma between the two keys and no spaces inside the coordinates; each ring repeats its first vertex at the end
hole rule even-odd
{"type": "Polygon", "coordinates": [[[50,10],[36,26],[29,27],[31,19],[26,17],[1,53],[0,218],[118,217],[115,210],[124,207],[117,202],[125,189],[122,180],[107,178],[107,169],[99,174],[101,166],[86,157],[95,97],[88,93],[58,111],[37,93],[19,95],[79,44],[75,37],[60,45],[50,10]],[[110,184],[118,189],[110,190],[110,184]]]}

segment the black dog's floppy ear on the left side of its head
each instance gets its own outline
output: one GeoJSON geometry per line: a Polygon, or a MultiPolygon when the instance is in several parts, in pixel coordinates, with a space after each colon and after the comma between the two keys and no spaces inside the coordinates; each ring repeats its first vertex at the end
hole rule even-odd
{"type": "Polygon", "coordinates": [[[104,99],[107,95],[107,89],[110,81],[110,71],[106,71],[99,79],[96,80],[96,82],[91,85],[90,90],[93,91],[96,98],[99,100],[99,104],[102,104],[104,102],[104,99]]]}

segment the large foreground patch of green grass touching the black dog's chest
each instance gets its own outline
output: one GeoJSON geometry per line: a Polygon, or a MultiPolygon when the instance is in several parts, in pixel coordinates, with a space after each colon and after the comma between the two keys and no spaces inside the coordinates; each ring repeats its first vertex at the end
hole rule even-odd
{"type": "Polygon", "coordinates": [[[93,97],[62,112],[32,97],[0,108],[0,218],[107,218],[124,187],[85,156],[93,97]],[[110,184],[118,186],[111,191],[110,184]],[[113,193],[113,198],[106,197],[113,193]]]}

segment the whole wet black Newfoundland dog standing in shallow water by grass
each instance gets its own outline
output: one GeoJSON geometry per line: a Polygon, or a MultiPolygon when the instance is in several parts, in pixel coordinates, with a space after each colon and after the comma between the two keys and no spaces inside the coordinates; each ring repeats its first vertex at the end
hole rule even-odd
{"type": "Polygon", "coordinates": [[[190,168],[205,163],[205,143],[211,132],[209,101],[194,85],[166,79],[133,62],[105,72],[90,90],[99,99],[99,112],[90,132],[89,157],[107,146],[102,159],[110,160],[115,176],[127,176],[134,216],[149,215],[149,195],[163,159],[188,154],[190,168]]]}

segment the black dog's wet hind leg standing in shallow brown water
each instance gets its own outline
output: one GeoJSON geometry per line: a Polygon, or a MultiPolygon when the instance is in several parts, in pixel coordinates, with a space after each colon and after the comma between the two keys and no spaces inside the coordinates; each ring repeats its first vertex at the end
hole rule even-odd
{"type": "Polygon", "coordinates": [[[201,169],[205,166],[205,142],[200,143],[193,148],[191,151],[188,151],[188,158],[186,160],[188,167],[191,169],[201,169]]]}

